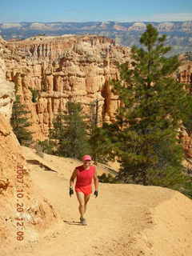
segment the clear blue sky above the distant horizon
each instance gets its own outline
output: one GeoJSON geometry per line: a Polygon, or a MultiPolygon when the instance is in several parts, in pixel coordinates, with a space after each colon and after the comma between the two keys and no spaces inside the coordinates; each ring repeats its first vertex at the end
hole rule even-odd
{"type": "Polygon", "coordinates": [[[0,0],[0,22],[192,20],[192,0],[0,0]]]}

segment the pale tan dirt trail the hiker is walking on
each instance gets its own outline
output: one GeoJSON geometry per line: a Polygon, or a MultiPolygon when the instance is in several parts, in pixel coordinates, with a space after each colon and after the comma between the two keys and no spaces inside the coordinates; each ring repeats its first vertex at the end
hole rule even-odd
{"type": "MultiPolygon", "coordinates": [[[[22,149],[26,159],[38,158],[22,149]]],[[[68,194],[70,174],[79,162],[49,155],[43,161],[55,171],[28,162],[30,175],[62,222],[26,246],[17,242],[12,256],[192,255],[189,198],[158,186],[100,183],[98,198],[92,194],[87,206],[88,225],[81,226],[76,195],[68,194]]]]}

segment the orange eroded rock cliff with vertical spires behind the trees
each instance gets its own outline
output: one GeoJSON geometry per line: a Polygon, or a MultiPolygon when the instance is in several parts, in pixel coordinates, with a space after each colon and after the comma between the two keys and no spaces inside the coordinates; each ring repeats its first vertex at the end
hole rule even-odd
{"type": "Polygon", "coordinates": [[[72,99],[82,102],[88,114],[98,98],[98,122],[113,120],[118,101],[109,79],[118,77],[116,62],[129,60],[128,47],[94,35],[28,38],[6,47],[6,78],[31,111],[34,138],[47,137],[54,116],[72,99]],[[37,102],[32,102],[31,88],[39,92],[37,102]]]}

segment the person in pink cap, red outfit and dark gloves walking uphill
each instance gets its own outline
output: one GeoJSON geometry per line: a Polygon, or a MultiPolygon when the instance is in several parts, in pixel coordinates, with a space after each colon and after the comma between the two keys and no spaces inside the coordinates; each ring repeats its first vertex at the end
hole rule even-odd
{"type": "Polygon", "coordinates": [[[90,199],[90,194],[92,193],[93,178],[95,186],[94,195],[95,198],[98,197],[98,176],[96,167],[90,165],[90,155],[84,155],[82,157],[82,162],[83,164],[81,166],[75,167],[74,172],[70,177],[70,197],[72,194],[74,194],[74,178],[77,178],[75,184],[75,192],[79,202],[78,210],[80,213],[80,222],[82,223],[82,225],[86,225],[86,218],[84,218],[83,216],[86,213],[86,205],[90,199]]]}

